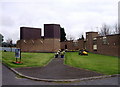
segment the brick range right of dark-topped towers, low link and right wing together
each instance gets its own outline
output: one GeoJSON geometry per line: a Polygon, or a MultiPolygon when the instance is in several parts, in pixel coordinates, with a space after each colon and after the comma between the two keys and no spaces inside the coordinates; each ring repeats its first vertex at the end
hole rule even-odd
{"type": "Polygon", "coordinates": [[[99,36],[98,32],[86,32],[86,41],[61,42],[61,49],[86,49],[88,52],[120,57],[120,34],[99,36]]]}

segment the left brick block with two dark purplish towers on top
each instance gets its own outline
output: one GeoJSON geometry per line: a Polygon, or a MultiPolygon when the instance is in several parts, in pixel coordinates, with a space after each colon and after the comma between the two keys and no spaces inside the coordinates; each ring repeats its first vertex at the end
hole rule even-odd
{"type": "Polygon", "coordinates": [[[60,25],[45,24],[44,37],[40,28],[21,27],[17,47],[23,52],[57,52],[60,49],[60,25]]]}

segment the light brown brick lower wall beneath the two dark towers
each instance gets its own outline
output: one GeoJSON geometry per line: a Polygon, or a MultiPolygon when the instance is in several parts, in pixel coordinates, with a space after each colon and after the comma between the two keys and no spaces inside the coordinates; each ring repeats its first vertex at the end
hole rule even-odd
{"type": "Polygon", "coordinates": [[[59,39],[19,40],[17,47],[24,52],[57,52],[60,49],[59,39]]]}

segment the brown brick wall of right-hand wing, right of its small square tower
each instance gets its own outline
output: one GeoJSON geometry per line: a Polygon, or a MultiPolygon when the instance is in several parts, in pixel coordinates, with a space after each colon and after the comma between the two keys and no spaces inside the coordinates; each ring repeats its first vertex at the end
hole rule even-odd
{"type": "Polygon", "coordinates": [[[103,44],[103,37],[97,38],[97,53],[110,56],[119,56],[118,50],[120,47],[120,35],[108,35],[106,38],[108,44],[103,44]]]}

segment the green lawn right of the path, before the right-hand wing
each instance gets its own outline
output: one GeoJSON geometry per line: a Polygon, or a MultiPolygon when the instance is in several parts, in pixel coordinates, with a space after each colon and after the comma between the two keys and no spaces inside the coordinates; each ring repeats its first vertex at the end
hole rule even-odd
{"type": "Polygon", "coordinates": [[[89,53],[88,56],[80,56],[78,52],[67,52],[65,64],[93,70],[103,74],[120,74],[118,71],[118,58],[89,53]]]}

